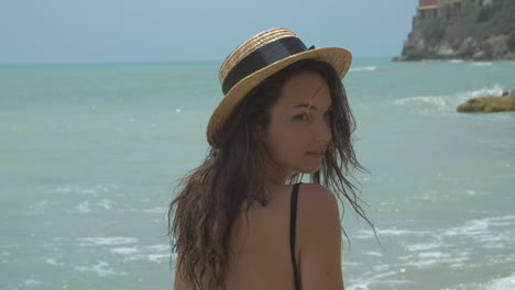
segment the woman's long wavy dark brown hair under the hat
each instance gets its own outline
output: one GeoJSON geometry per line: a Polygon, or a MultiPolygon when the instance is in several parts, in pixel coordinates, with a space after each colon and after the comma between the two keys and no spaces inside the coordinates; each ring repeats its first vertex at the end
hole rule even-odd
{"type": "MultiPolygon", "coordinates": [[[[265,188],[270,157],[254,133],[267,127],[271,108],[281,97],[283,85],[302,71],[324,77],[332,99],[332,140],[320,170],[310,175],[310,182],[331,188],[340,201],[347,200],[369,222],[357,188],[347,177],[362,167],[352,146],[355,123],[342,82],[327,63],[297,62],[263,80],[243,98],[224,124],[220,147],[211,147],[205,161],[177,187],[168,210],[168,235],[172,250],[178,253],[177,275],[191,288],[224,289],[230,231],[237,213],[243,201],[248,212],[254,202],[265,207],[271,198],[265,188]]],[[[289,182],[300,178],[302,175],[295,175],[289,182]]]]}

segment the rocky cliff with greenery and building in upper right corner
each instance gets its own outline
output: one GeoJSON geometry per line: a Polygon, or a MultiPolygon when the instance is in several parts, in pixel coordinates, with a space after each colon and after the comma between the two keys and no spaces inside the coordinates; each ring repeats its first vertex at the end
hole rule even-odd
{"type": "Polygon", "coordinates": [[[415,16],[402,55],[394,60],[515,59],[514,0],[451,9],[439,5],[438,16],[415,16]]]}

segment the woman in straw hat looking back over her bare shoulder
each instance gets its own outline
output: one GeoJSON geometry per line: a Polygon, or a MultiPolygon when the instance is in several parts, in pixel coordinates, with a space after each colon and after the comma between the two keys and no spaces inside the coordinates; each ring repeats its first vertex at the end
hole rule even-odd
{"type": "Polygon", "coordinates": [[[169,205],[175,289],[343,289],[336,198],[366,220],[346,178],[361,168],[341,83],[350,64],[286,29],[227,57],[210,152],[169,205]],[[310,183],[296,183],[304,174],[310,183]]]}

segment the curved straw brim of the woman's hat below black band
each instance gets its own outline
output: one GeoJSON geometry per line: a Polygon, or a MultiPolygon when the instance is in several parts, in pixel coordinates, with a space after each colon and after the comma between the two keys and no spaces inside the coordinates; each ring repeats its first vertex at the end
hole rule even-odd
{"type": "Polygon", "coordinates": [[[340,79],[342,79],[347,71],[349,71],[352,55],[349,51],[341,47],[309,49],[277,60],[244,77],[227,92],[226,97],[212,112],[207,127],[208,143],[212,147],[218,147],[218,136],[222,132],[223,125],[226,124],[229,115],[243,97],[245,97],[253,88],[281,69],[303,59],[315,59],[328,63],[338,72],[340,79]]]}

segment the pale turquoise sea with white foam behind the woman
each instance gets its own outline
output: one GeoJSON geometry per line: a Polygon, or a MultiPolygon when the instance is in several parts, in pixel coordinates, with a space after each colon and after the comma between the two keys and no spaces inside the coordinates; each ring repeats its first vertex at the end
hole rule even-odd
{"type": "MultiPolygon", "coordinates": [[[[205,158],[221,62],[0,66],[0,289],[173,289],[166,212],[205,158]]],[[[348,290],[515,289],[515,62],[354,59],[348,290]]]]}

